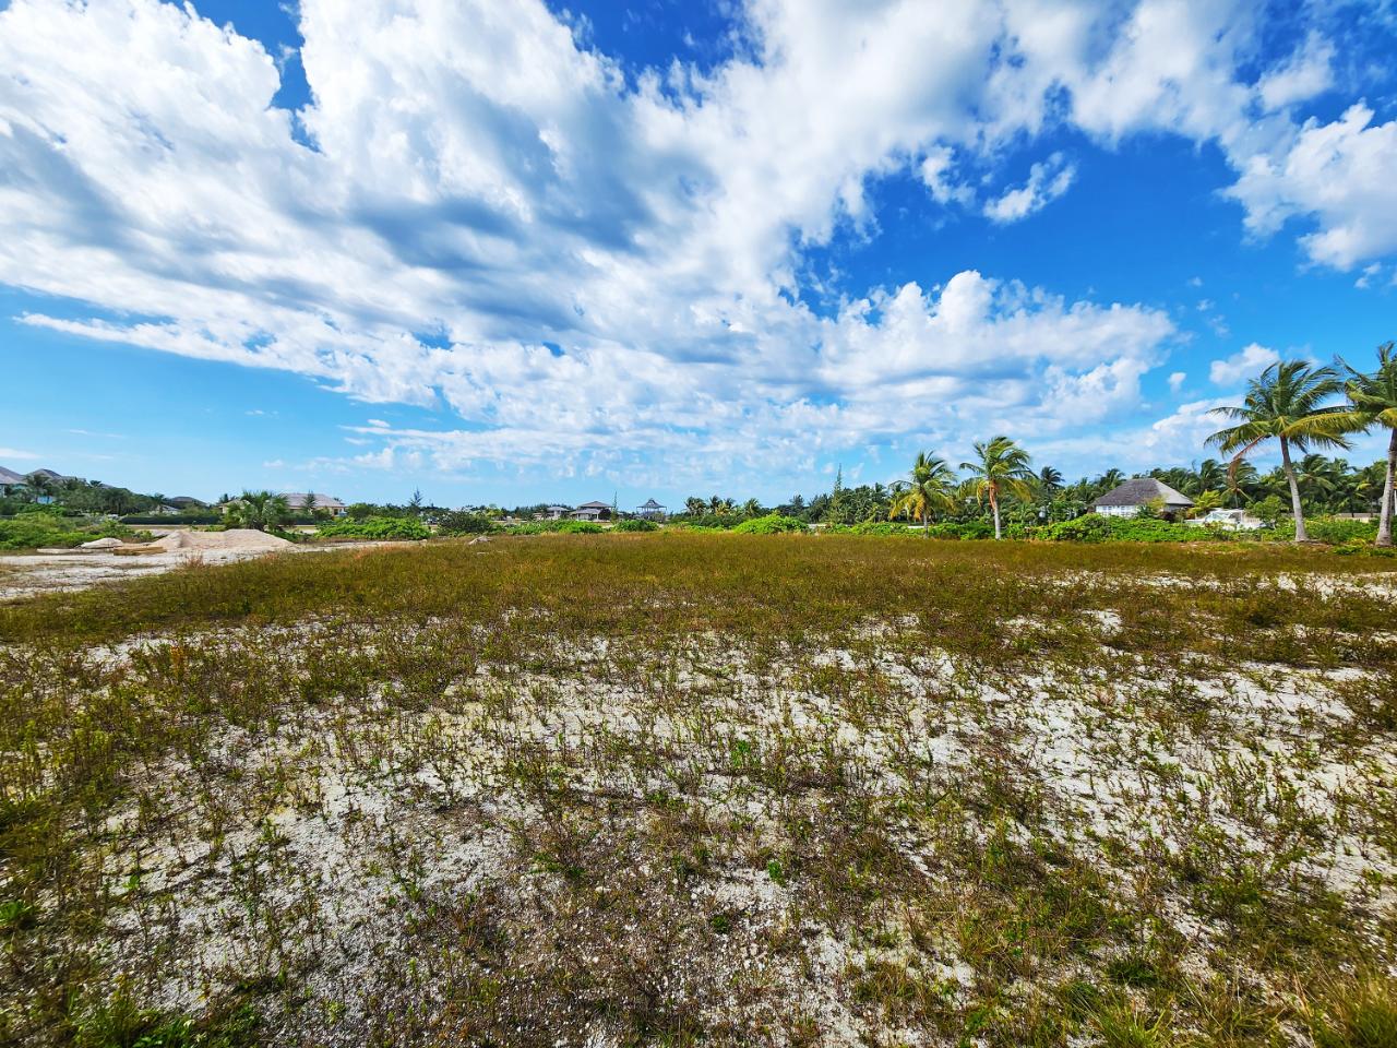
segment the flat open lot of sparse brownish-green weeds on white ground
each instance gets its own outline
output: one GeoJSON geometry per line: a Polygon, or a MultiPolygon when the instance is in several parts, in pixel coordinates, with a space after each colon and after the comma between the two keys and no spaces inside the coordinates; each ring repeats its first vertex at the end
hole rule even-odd
{"type": "Polygon", "coordinates": [[[538,537],[3,606],[0,1041],[1393,1045],[1383,563],[538,537]]]}

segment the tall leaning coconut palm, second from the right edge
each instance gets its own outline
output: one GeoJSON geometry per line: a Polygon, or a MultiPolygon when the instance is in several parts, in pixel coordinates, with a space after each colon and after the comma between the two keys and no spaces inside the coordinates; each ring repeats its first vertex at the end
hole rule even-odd
{"type": "Polygon", "coordinates": [[[1310,367],[1305,361],[1277,361],[1248,383],[1241,404],[1214,408],[1211,414],[1236,419],[1238,425],[1221,429],[1208,437],[1224,453],[1232,454],[1232,465],[1241,463],[1259,444],[1273,437],[1281,443],[1281,470],[1291,489],[1291,511],[1295,514],[1295,541],[1308,542],[1305,509],[1301,486],[1291,464],[1291,449],[1306,451],[1316,447],[1348,447],[1344,433],[1352,430],[1352,419],[1344,408],[1324,407],[1324,401],[1343,390],[1333,367],[1310,367]]]}

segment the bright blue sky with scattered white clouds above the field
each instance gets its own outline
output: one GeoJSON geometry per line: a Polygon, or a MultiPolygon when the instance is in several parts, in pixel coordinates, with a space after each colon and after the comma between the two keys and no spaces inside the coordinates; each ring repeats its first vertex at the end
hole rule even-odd
{"type": "MultiPolygon", "coordinates": [[[[0,3],[0,465],[768,502],[1393,338],[1389,4],[0,3]]],[[[1362,442],[1352,458],[1377,457],[1362,442]]]]}

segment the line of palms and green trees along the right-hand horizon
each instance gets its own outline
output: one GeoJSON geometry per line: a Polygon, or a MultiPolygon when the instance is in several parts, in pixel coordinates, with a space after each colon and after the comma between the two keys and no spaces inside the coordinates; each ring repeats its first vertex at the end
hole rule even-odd
{"type": "MultiPolygon", "coordinates": [[[[1344,361],[1315,366],[1280,361],[1248,383],[1241,404],[1217,408],[1234,425],[1207,439],[1222,458],[1190,467],[1155,468],[1154,476],[1189,496],[1192,513],[1213,509],[1250,509],[1274,523],[1288,503],[1295,539],[1308,539],[1306,514],[1377,513],[1377,545],[1390,546],[1397,474],[1397,352],[1393,342],[1377,348],[1376,367],[1362,370],[1344,361]],[[1387,454],[1366,465],[1326,457],[1320,450],[1348,450],[1351,437],[1389,430],[1387,454]],[[1271,444],[1281,461],[1261,472],[1250,456],[1271,444]]],[[[1095,478],[1067,483],[1059,470],[1032,460],[1009,436],[975,443],[968,461],[953,468],[944,458],[922,451],[907,476],[890,485],[845,488],[842,468],[833,490],[806,502],[800,495],[780,506],[756,499],[738,503],[718,495],[690,496],[690,520],[732,520],[781,513],[816,524],[858,524],[904,518],[921,524],[970,521],[988,517],[995,537],[1006,523],[1044,524],[1071,520],[1129,476],[1111,468],[1095,478]]]]}

